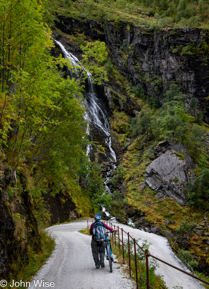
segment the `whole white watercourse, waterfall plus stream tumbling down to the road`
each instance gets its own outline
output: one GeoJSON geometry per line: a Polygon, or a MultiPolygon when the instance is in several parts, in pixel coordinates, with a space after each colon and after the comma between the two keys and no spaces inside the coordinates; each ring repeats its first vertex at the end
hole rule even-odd
{"type": "MultiPolygon", "coordinates": [[[[59,41],[55,40],[56,44],[60,47],[62,50],[64,57],[71,60],[71,63],[73,65],[81,66],[79,60],[77,57],[75,57],[72,53],[67,51],[67,49],[61,44],[59,41]]],[[[73,77],[73,73],[71,70],[69,70],[69,74],[71,78],[73,77]]],[[[104,109],[101,100],[98,98],[98,95],[94,89],[94,84],[92,83],[91,73],[87,71],[88,75],[88,87],[89,91],[85,92],[84,98],[85,103],[84,106],[86,107],[86,115],[84,117],[85,120],[88,120],[90,124],[87,125],[87,134],[90,134],[90,126],[94,124],[95,127],[97,127],[99,130],[103,132],[104,135],[106,135],[105,143],[108,145],[109,150],[105,152],[105,156],[107,157],[109,161],[108,170],[105,174],[106,180],[105,180],[105,187],[108,193],[111,195],[111,189],[108,186],[108,180],[110,179],[111,173],[113,170],[116,169],[116,165],[114,164],[116,162],[116,155],[115,151],[111,147],[111,128],[109,123],[109,116],[108,112],[104,109]]],[[[92,150],[92,146],[87,145],[87,152],[86,155],[88,156],[90,151],[92,150]]],[[[90,158],[89,158],[90,159],[90,158]]],[[[102,206],[102,211],[105,212],[106,216],[110,218],[111,221],[117,222],[115,217],[111,217],[108,211],[106,211],[106,208],[102,206]]],[[[133,225],[132,220],[127,220],[128,225],[133,225]]]]}

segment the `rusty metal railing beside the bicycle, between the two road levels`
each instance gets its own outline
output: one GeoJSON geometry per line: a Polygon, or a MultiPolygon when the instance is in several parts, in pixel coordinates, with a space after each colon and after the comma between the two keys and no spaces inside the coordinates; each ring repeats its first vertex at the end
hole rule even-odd
{"type": "MultiPolygon", "coordinates": [[[[91,223],[91,221],[87,220],[87,227],[89,227],[89,222],[91,223]]],[[[118,232],[117,232],[117,233],[118,233],[118,234],[117,234],[118,236],[116,235],[115,232],[112,232],[112,234],[110,234],[110,239],[111,239],[111,242],[112,242],[113,244],[115,244],[115,248],[116,248],[116,246],[118,245],[118,248],[119,248],[119,250],[121,251],[121,247],[122,247],[123,264],[125,264],[125,260],[126,260],[126,262],[128,263],[128,267],[129,267],[129,276],[132,277],[132,274],[133,274],[133,276],[134,276],[133,279],[135,279],[135,282],[136,282],[136,289],[141,289],[141,288],[140,288],[140,285],[139,285],[139,280],[141,280],[142,282],[144,282],[144,283],[146,284],[146,289],[149,289],[149,288],[154,289],[154,288],[149,284],[149,257],[152,257],[152,258],[158,260],[159,262],[162,262],[162,263],[166,264],[167,266],[170,266],[170,267],[172,267],[172,268],[174,268],[174,269],[176,269],[176,270],[178,270],[178,271],[180,271],[180,272],[182,272],[182,273],[184,273],[184,274],[189,275],[190,277],[192,277],[192,278],[194,278],[194,279],[197,279],[197,280],[199,280],[199,281],[201,281],[201,282],[209,285],[209,282],[207,282],[207,281],[205,281],[205,280],[197,277],[196,275],[194,275],[194,273],[191,274],[191,273],[189,273],[189,272],[187,272],[187,271],[184,271],[184,270],[182,270],[182,269],[180,269],[180,268],[178,268],[178,267],[176,267],[176,266],[173,266],[173,265],[170,264],[170,263],[167,263],[166,261],[163,261],[163,260],[157,258],[156,256],[153,256],[152,254],[150,254],[150,253],[148,252],[148,249],[145,249],[145,250],[144,250],[144,249],[136,242],[135,238],[132,238],[132,236],[130,236],[129,232],[125,232],[125,231],[123,230],[123,228],[120,228],[119,226],[112,225],[112,223],[111,223],[110,221],[109,221],[109,222],[108,222],[108,221],[104,221],[104,222],[107,223],[107,225],[108,225],[108,223],[109,223],[109,226],[110,226],[111,228],[113,228],[113,227],[114,227],[114,228],[115,228],[115,227],[118,228],[118,232]],[[121,234],[120,234],[120,231],[121,231],[121,234]],[[127,235],[128,247],[126,246],[127,244],[125,245],[125,243],[124,243],[124,233],[127,235]],[[112,236],[111,236],[111,235],[112,235],[112,236]],[[116,243],[116,238],[118,239],[118,242],[117,242],[117,243],[116,243]],[[134,253],[132,253],[132,251],[130,250],[130,238],[133,240],[134,253]],[[137,263],[136,246],[138,246],[138,248],[145,254],[145,260],[146,260],[146,280],[144,280],[144,278],[142,277],[142,272],[141,272],[141,270],[140,270],[140,268],[139,268],[139,265],[138,265],[138,263],[137,263]],[[125,248],[125,249],[127,250],[127,252],[128,252],[128,259],[126,258],[125,254],[124,254],[124,248],[125,248]],[[134,270],[133,270],[133,268],[132,268],[132,266],[131,266],[131,258],[130,258],[130,256],[132,256],[132,258],[133,258],[133,260],[134,260],[135,272],[134,272],[134,270]],[[132,272],[132,273],[131,273],[131,272],[132,272]],[[138,272],[139,272],[140,277],[138,277],[138,272]]],[[[93,223],[93,220],[92,220],[92,223],[93,223]]]]}

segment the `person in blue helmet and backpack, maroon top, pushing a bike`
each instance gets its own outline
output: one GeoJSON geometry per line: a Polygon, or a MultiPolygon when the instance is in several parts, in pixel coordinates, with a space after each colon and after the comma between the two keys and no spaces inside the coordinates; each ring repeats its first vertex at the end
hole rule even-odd
{"type": "Polygon", "coordinates": [[[101,222],[101,214],[95,214],[95,222],[91,224],[89,234],[92,235],[91,239],[91,250],[94,258],[94,263],[97,269],[105,268],[105,233],[106,229],[109,231],[116,232],[116,229],[113,229],[101,222]]]}

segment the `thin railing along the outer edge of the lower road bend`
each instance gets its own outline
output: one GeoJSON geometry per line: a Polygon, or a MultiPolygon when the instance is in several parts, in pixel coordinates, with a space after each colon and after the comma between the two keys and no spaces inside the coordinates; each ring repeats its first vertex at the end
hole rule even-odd
{"type": "MultiPolygon", "coordinates": [[[[126,219],[128,218],[127,216],[120,215],[120,214],[115,214],[115,215],[117,215],[117,216],[122,216],[122,217],[124,217],[124,218],[126,218],[126,219]]],[[[128,219],[131,220],[131,224],[128,224],[127,222],[123,222],[123,221],[121,221],[121,220],[117,220],[117,222],[119,222],[119,223],[121,223],[121,224],[128,225],[128,226],[133,226],[132,224],[134,224],[135,222],[132,221],[132,218],[128,218],[128,219]]],[[[144,222],[144,221],[142,221],[142,220],[140,220],[140,222],[143,223],[144,225],[151,225],[151,224],[146,223],[146,222],[144,222]]],[[[140,225],[140,224],[139,224],[139,225],[140,225]]],[[[182,263],[187,267],[187,269],[189,268],[189,270],[194,274],[194,271],[193,271],[192,267],[191,267],[190,264],[189,264],[189,260],[188,260],[187,256],[185,256],[184,253],[181,252],[181,250],[179,249],[179,247],[176,245],[176,243],[175,243],[176,240],[171,239],[171,237],[170,237],[169,234],[166,234],[166,233],[164,233],[164,232],[161,232],[161,230],[164,231],[164,228],[162,228],[162,227],[160,227],[160,226],[158,226],[158,227],[160,228],[160,230],[157,231],[157,232],[152,232],[152,234],[156,234],[156,235],[159,235],[159,236],[162,236],[162,237],[166,238],[167,241],[168,241],[168,243],[169,243],[170,249],[174,252],[174,254],[177,256],[177,258],[179,258],[179,259],[182,261],[182,263]]]]}

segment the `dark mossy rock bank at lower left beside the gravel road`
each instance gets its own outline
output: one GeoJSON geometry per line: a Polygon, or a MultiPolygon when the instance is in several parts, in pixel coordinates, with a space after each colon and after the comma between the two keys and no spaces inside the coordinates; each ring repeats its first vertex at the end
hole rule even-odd
{"type": "Polygon", "coordinates": [[[27,247],[38,252],[40,238],[36,218],[33,215],[33,203],[28,191],[9,203],[7,186],[11,185],[13,173],[2,173],[0,179],[0,276],[8,277],[12,263],[20,258],[28,261],[27,247]]]}

